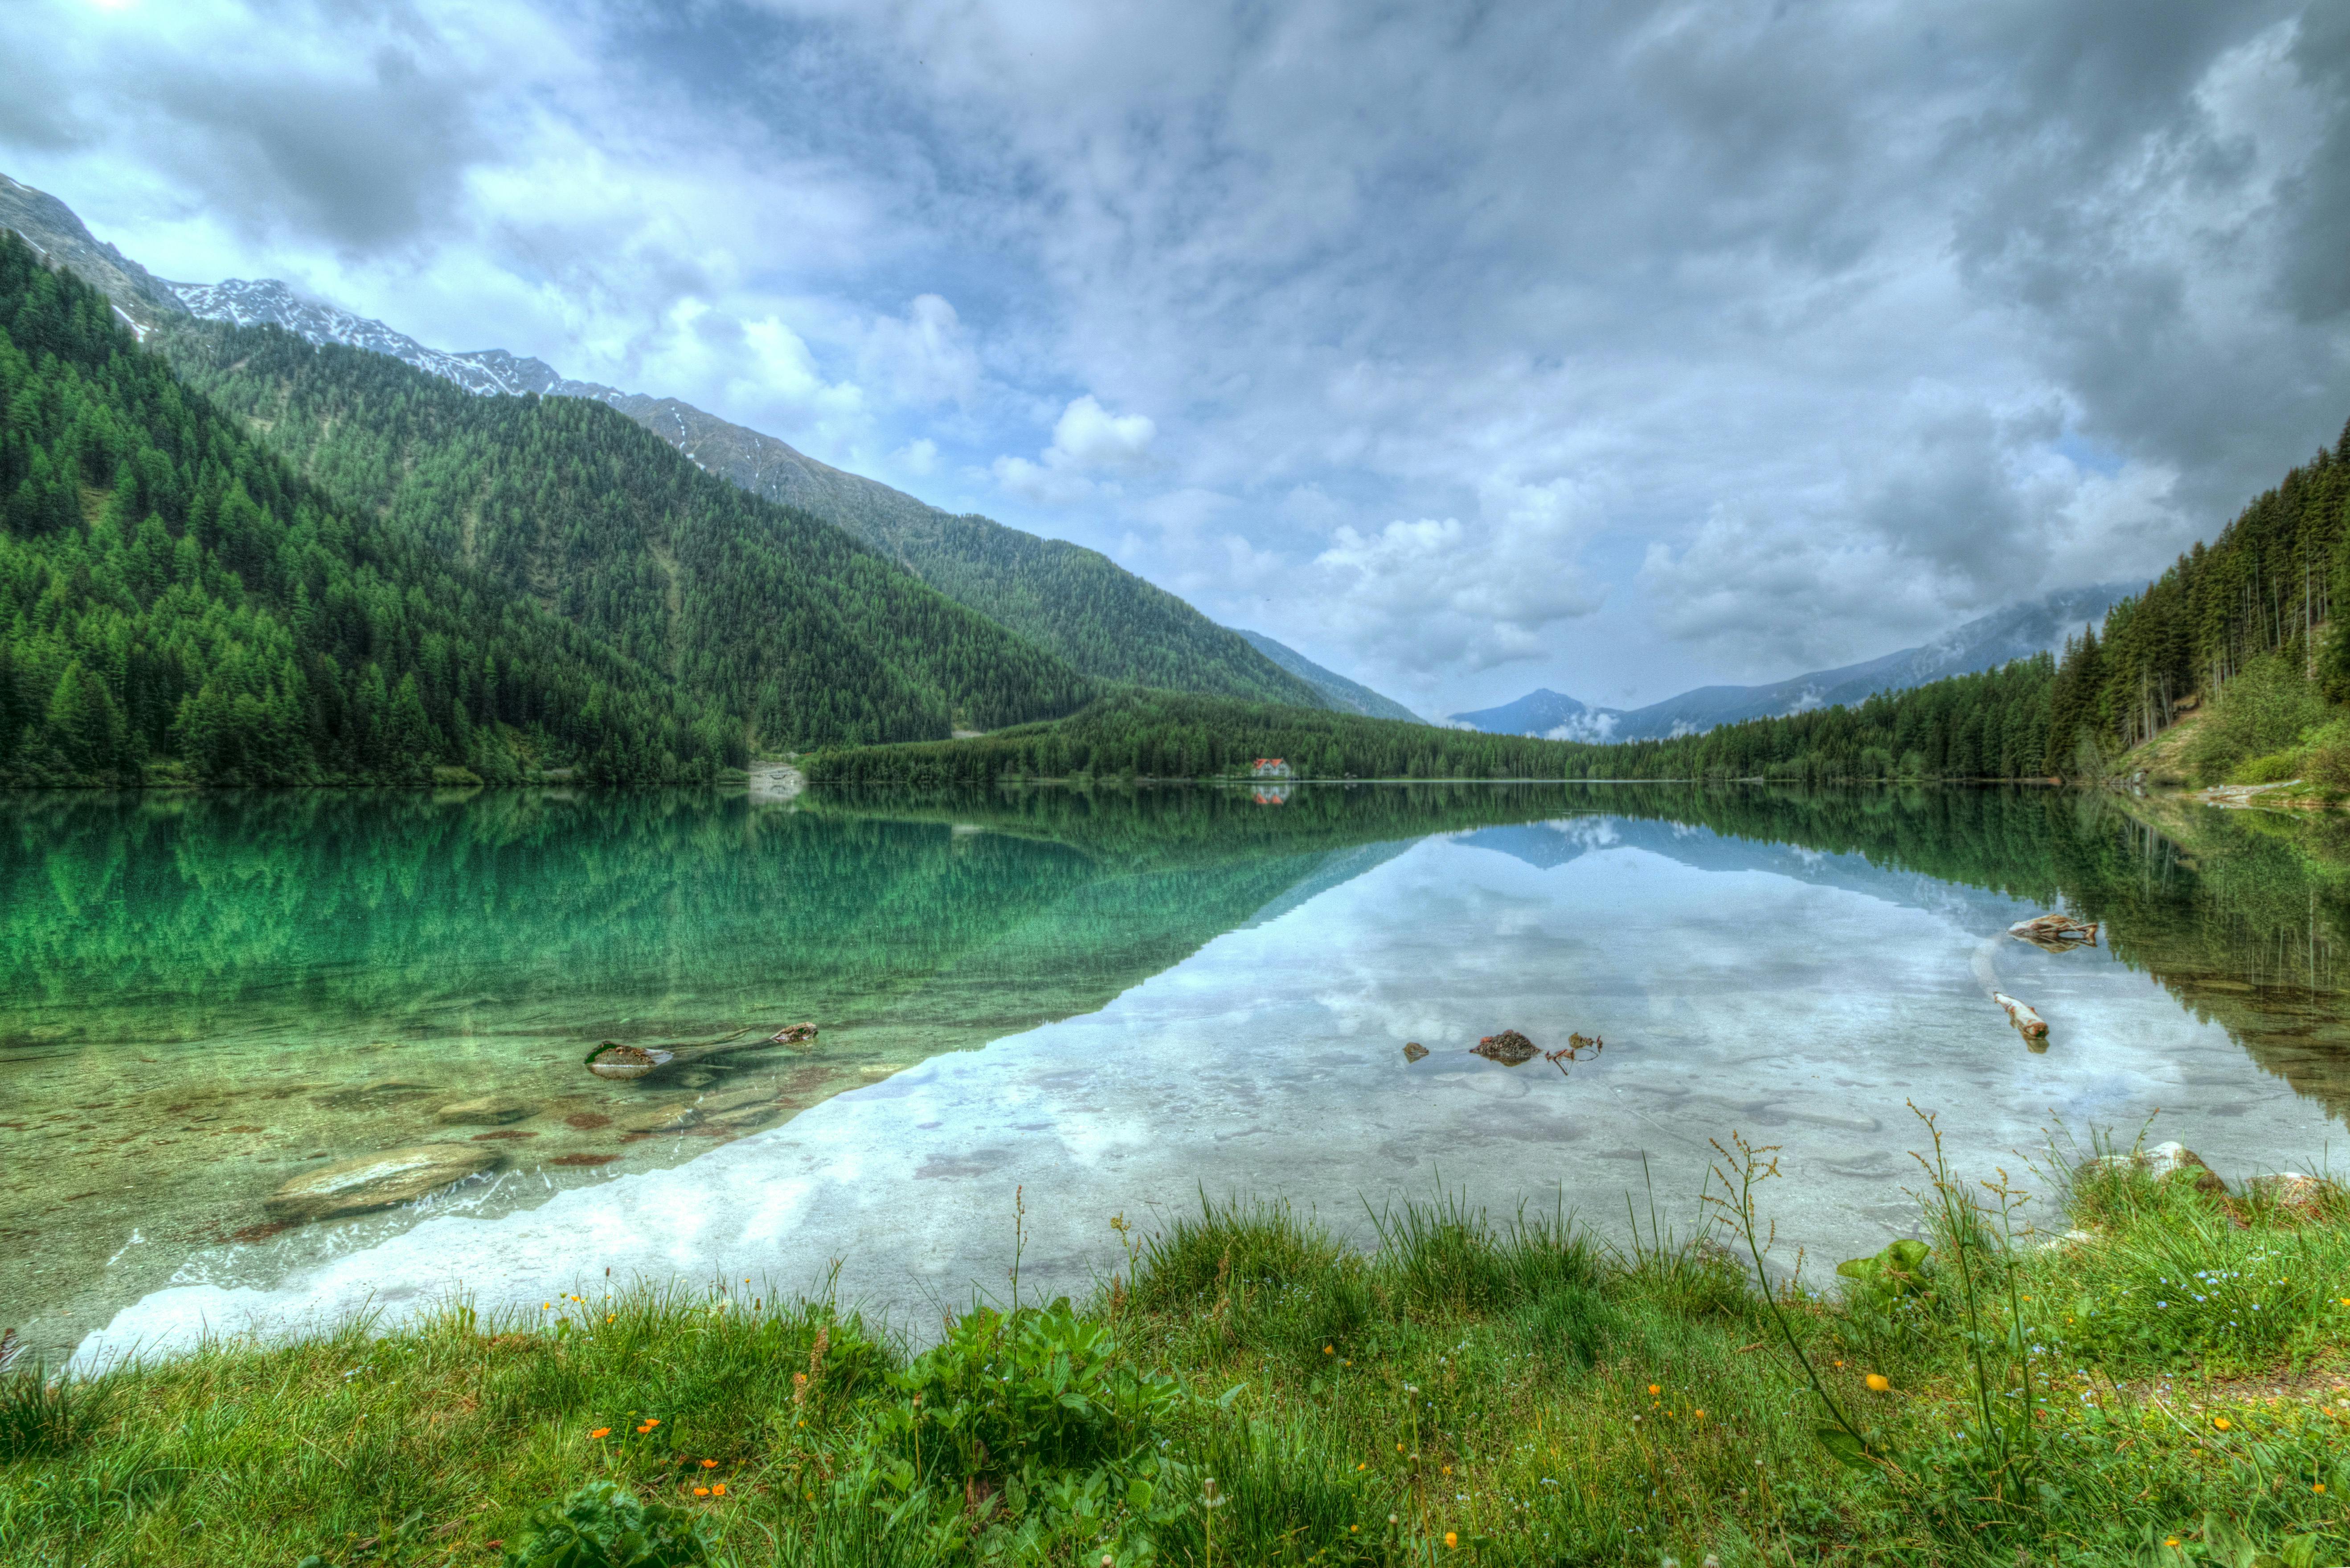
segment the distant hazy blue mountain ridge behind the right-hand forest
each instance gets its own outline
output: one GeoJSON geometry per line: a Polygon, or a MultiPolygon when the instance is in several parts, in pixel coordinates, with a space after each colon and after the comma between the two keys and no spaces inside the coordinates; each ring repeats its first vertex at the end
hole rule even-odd
{"type": "Polygon", "coordinates": [[[1770,685],[1699,685],[1697,690],[1652,702],[1645,709],[1596,709],[1574,697],[1537,690],[1518,702],[1452,714],[1450,723],[1499,735],[1544,735],[1549,739],[1668,739],[1699,735],[1716,725],[1746,718],[1779,718],[1810,709],[1856,704],[1871,692],[1899,692],[1946,676],[1998,669],[2009,660],[2047,653],[2082,624],[2103,620],[2106,610],[2131,589],[2101,582],[2082,589],[2059,589],[2044,599],[2007,606],[1925,643],[1864,664],[1814,669],[1770,685]]]}

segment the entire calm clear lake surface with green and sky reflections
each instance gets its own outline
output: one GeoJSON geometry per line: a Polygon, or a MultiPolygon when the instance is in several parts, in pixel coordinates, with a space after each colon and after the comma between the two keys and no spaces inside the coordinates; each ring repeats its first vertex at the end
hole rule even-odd
{"type": "Polygon", "coordinates": [[[14,796],[0,824],[0,1326],[52,1361],[451,1293],[536,1314],[606,1270],[837,1270],[921,1333],[1008,1293],[1015,1192],[1025,1293],[1203,1195],[1368,1235],[1445,1190],[1619,1239],[1654,1202],[1687,1235],[1732,1131],[1784,1148],[1777,1261],[1826,1270],[1913,1228],[1911,1103],[1960,1169],[2042,1190],[2087,1153],[2052,1136],[2155,1117],[2240,1178],[2322,1164],[2350,1113],[2350,845],[2242,812],[1323,786],[14,796]],[[2101,944],[2005,937],[2047,908],[2101,944]],[[1502,1028],[1605,1047],[1471,1054],[1502,1028]],[[606,1082],[606,1040],[724,1047],[606,1082]],[[491,1164],[355,1218],[268,1207],[421,1143],[491,1164]]]}

